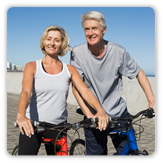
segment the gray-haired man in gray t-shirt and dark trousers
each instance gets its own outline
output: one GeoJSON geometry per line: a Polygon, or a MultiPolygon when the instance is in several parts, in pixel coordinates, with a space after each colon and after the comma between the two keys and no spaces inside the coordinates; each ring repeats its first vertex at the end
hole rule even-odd
{"type": "MultiPolygon", "coordinates": [[[[137,77],[148,100],[147,108],[155,110],[155,97],[143,70],[125,48],[103,39],[106,32],[104,15],[97,11],[84,14],[82,26],[87,43],[73,48],[71,64],[78,70],[87,87],[99,100],[105,113],[109,117],[126,117],[129,114],[126,102],[121,97],[122,75],[130,79],[137,77]]],[[[73,93],[85,116],[94,117],[96,111],[83,101],[75,87],[73,87],[73,93]]],[[[125,129],[124,123],[114,128],[114,130],[125,129]]],[[[107,134],[110,130],[109,127],[103,131],[84,129],[87,155],[107,155],[107,134]]],[[[111,138],[120,154],[127,140],[120,136],[111,136],[111,138]]]]}

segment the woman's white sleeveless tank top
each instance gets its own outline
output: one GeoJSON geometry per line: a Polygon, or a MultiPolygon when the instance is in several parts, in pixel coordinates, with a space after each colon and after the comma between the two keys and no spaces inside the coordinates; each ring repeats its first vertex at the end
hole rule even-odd
{"type": "Polygon", "coordinates": [[[51,75],[42,67],[42,59],[36,60],[32,96],[26,109],[26,117],[32,121],[52,124],[65,122],[68,117],[67,97],[71,75],[62,62],[62,71],[51,75]]]}

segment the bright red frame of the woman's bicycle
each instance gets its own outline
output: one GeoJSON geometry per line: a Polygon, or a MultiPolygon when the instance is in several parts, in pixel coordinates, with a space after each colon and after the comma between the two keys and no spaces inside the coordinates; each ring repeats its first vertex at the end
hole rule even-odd
{"type": "Polygon", "coordinates": [[[56,144],[61,147],[60,151],[56,152],[56,156],[68,156],[67,137],[65,135],[63,135],[61,139],[58,140],[43,138],[41,143],[53,143],[54,145],[56,144]]]}

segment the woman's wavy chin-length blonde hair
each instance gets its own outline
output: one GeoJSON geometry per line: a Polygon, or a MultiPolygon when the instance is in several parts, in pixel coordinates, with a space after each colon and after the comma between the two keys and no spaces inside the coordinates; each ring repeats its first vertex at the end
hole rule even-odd
{"type": "Polygon", "coordinates": [[[45,40],[47,38],[47,35],[48,35],[48,32],[51,31],[51,30],[54,30],[54,31],[59,31],[61,33],[61,36],[62,36],[62,46],[61,46],[61,50],[60,50],[60,53],[59,53],[59,56],[64,56],[66,53],[67,53],[67,50],[69,51],[72,51],[72,48],[69,46],[69,37],[67,36],[65,30],[61,27],[58,27],[56,25],[52,25],[52,26],[49,26],[45,29],[44,33],[42,34],[41,36],[41,39],[40,39],[40,48],[41,48],[41,51],[46,55],[46,51],[45,51],[45,40]]]}

